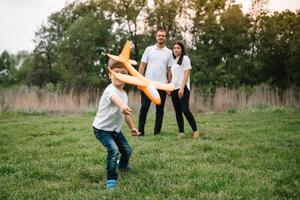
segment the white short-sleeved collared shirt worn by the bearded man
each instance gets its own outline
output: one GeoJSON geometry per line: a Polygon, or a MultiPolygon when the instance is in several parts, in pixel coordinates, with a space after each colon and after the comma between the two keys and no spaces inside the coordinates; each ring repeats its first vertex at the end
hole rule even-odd
{"type": "Polygon", "coordinates": [[[147,64],[145,77],[160,83],[168,83],[168,67],[172,65],[172,51],[156,45],[146,48],[141,62],[147,64]]]}

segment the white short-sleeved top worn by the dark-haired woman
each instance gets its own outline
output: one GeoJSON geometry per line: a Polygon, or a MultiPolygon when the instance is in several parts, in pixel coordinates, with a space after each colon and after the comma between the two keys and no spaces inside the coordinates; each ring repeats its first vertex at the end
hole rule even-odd
{"type": "MultiPolygon", "coordinates": [[[[174,84],[175,89],[179,89],[184,77],[184,71],[192,69],[191,61],[188,56],[183,56],[181,65],[177,64],[178,58],[173,59],[173,64],[171,66],[171,73],[172,73],[172,81],[171,83],[174,84]]],[[[186,82],[187,88],[191,89],[190,77],[186,82]]]]}

